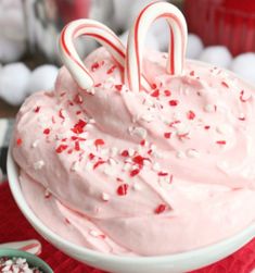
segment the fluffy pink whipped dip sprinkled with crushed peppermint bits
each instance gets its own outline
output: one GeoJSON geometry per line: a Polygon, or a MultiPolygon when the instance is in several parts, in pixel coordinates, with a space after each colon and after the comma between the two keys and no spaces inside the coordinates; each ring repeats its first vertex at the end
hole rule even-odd
{"type": "Polygon", "coordinates": [[[65,67],[53,91],[30,96],[13,157],[36,215],[69,241],[98,251],[161,256],[222,240],[255,219],[254,88],[227,71],[166,54],[143,63],[152,89],[123,85],[103,49],[81,90],[65,67]]]}

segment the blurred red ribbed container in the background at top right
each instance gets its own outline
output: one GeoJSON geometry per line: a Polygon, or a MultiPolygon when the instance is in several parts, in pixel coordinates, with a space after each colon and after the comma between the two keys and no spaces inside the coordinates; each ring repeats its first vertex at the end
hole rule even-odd
{"type": "Polygon", "coordinates": [[[186,0],[184,13],[205,46],[224,45],[233,55],[255,51],[255,1],[186,0]]]}

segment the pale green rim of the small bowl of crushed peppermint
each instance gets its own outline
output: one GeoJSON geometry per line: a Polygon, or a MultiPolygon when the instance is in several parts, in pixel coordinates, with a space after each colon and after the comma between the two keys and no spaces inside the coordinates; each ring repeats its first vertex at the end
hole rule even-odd
{"type": "Polygon", "coordinates": [[[40,268],[44,273],[53,273],[53,270],[50,268],[50,265],[44,262],[41,258],[37,257],[36,255],[13,249],[13,248],[0,248],[0,258],[1,257],[8,257],[8,258],[24,258],[27,260],[27,263],[40,268]]]}

